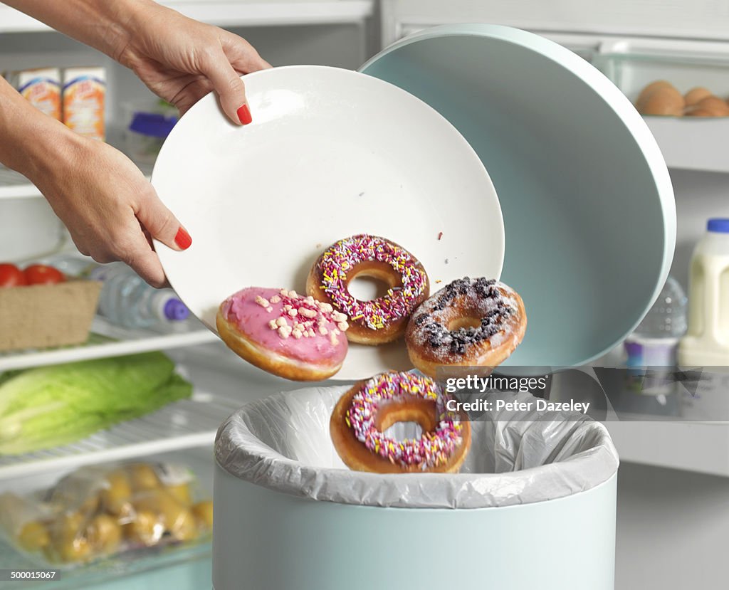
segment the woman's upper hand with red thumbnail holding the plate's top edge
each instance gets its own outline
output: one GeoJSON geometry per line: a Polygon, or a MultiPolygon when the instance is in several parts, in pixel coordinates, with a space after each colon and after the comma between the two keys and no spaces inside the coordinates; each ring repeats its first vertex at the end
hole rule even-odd
{"type": "Polygon", "coordinates": [[[181,114],[215,90],[231,121],[251,122],[240,76],[270,64],[238,35],[152,2],[140,4],[128,42],[113,57],[181,114]]]}

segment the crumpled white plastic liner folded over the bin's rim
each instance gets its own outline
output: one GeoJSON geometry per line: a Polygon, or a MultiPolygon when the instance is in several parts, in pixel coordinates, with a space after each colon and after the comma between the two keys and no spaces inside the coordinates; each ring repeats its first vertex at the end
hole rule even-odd
{"type": "MultiPolygon", "coordinates": [[[[487,412],[471,422],[461,473],[351,471],[330,439],[349,386],[307,388],[246,404],[218,430],[215,457],[240,479],[312,500],[397,508],[486,508],[543,502],[596,487],[617,471],[607,429],[582,414],[487,412]]],[[[529,393],[500,398],[535,401],[529,393]]],[[[534,405],[534,404],[533,404],[534,405]]]]}

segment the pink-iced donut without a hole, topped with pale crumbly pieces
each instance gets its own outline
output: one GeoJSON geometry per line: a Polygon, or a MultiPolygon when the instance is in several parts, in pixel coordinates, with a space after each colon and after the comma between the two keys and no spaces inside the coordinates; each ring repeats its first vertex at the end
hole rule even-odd
{"type": "Polygon", "coordinates": [[[215,323],[238,356],[286,379],[327,379],[347,354],[346,316],[296,291],[243,289],[220,304],[215,323]]]}

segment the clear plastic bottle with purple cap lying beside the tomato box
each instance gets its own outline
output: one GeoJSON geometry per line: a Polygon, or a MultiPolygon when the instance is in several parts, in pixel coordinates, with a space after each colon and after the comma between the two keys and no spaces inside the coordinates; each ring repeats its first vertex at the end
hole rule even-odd
{"type": "Polygon", "coordinates": [[[98,310],[110,322],[125,328],[165,327],[169,322],[186,320],[190,310],[171,289],[155,289],[122,262],[95,267],[89,278],[104,286],[98,310]]]}

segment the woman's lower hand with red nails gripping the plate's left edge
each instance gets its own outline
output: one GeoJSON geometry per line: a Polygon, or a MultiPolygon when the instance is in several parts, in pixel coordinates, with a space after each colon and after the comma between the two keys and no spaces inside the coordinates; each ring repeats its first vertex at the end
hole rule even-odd
{"type": "Polygon", "coordinates": [[[150,285],[164,286],[152,237],[178,251],[192,240],[139,168],[106,143],[70,132],[56,145],[61,149],[31,180],[79,252],[97,262],[124,261],[150,285]]]}

